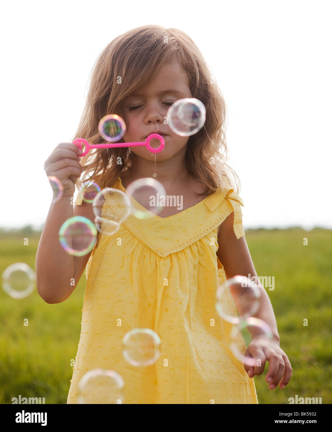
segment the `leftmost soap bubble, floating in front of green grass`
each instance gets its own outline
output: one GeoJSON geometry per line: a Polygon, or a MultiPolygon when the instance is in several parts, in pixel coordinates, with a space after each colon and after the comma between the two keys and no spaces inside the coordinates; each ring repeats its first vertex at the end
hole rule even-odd
{"type": "Polygon", "coordinates": [[[35,271],[28,264],[15,263],[2,274],[3,290],[13,299],[23,299],[35,289],[35,271]]]}

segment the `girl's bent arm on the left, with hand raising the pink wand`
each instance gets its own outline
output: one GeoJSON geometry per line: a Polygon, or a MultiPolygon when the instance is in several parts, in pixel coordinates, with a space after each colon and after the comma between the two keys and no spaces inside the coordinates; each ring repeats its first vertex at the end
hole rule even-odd
{"type": "Polygon", "coordinates": [[[51,203],[36,254],[37,290],[47,303],[68,299],[91,254],[74,257],[63,250],[59,241],[60,227],[67,219],[85,216],[94,220],[91,204],[73,209],[75,184],[82,174],[80,154],[82,151],[73,143],[60,143],[44,163],[46,175],[56,177],[63,186],[60,200],[51,203]]]}

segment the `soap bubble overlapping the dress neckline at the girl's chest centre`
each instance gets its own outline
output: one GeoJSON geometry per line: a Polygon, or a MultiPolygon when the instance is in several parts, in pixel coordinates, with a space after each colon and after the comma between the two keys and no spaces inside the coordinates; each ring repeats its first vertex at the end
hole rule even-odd
{"type": "Polygon", "coordinates": [[[130,199],[131,213],[138,219],[152,218],[167,205],[164,186],[152,177],[133,181],[127,187],[126,194],[130,199]]]}

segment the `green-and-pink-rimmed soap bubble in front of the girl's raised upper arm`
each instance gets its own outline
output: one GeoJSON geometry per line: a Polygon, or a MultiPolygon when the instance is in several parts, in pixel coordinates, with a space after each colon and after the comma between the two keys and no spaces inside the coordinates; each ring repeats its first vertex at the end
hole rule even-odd
{"type": "Polygon", "coordinates": [[[68,254],[76,257],[82,257],[92,251],[97,235],[94,224],[84,216],[67,219],[59,230],[61,246],[68,254]]]}

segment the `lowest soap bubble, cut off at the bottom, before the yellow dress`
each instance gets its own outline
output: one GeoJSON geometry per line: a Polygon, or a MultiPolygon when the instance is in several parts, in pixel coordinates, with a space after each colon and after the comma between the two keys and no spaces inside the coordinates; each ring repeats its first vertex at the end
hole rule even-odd
{"type": "Polygon", "coordinates": [[[79,381],[78,403],[117,404],[123,403],[122,377],[108,369],[92,369],[79,381]]]}

